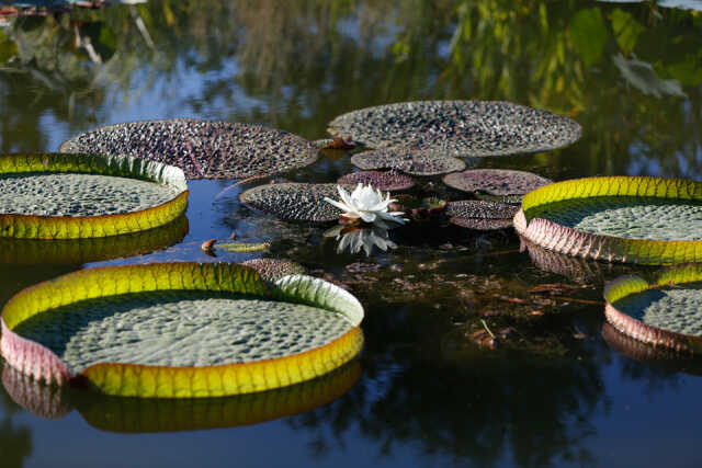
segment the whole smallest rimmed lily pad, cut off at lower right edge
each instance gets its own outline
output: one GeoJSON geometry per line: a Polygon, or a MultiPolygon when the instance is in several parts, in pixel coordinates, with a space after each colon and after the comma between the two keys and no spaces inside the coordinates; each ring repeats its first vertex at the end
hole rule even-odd
{"type": "Polygon", "coordinates": [[[650,283],[621,276],[604,288],[607,320],[645,343],[702,353],[702,265],[664,271],[650,283]]]}

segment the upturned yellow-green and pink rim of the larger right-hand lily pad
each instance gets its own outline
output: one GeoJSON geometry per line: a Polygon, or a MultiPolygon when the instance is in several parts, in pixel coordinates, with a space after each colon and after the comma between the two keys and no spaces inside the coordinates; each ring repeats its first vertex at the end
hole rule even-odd
{"type": "Polygon", "coordinates": [[[702,262],[702,241],[655,241],[592,235],[530,216],[534,207],[596,196],[642,196],[700,202],[702,183],[623,175],[556,182],[524,195],[522,207],[514,216],[514,229],[526,240],[545,249],[585,259],[647,265],[702,262]]]}

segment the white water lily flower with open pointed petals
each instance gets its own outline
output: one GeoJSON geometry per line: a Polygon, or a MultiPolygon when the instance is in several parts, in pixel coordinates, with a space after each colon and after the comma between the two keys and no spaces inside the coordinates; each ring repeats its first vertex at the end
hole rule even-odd
{"type": "Polygon", "coordinates": [[[400,225],[407,221],[407,219],[400,217],[404,215],[403,212],[388,212],[388,205],[397,202],[390,198],[389,193],[383,198],[383,192],[374,190],[371,185],[363,184],[356,185],[350,195],[340,185],[337,185],[337,190],[341,196],[341,202],[333,201],[327,196],[325,196],[325,202],[343,210],[343,217],[361,218],[364,222],[380,225],[383,225],[383,221],[393,221],[400,225]]]}

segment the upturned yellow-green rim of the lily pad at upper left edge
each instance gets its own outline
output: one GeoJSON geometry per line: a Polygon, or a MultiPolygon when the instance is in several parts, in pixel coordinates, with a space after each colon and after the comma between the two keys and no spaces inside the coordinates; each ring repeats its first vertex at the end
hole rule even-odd
{"type": "Polygon", "coordinates": [[[19,239],[82,239],[118,236],[166,225],[185,212],[188,185],[172,165],[128,156],[20,153],[0,156],[0,174],[64,172],[131,178],[168,184],[178,190],[170,201],[118,215],[34,216],[0,214],[0,237],[19,239]]]}

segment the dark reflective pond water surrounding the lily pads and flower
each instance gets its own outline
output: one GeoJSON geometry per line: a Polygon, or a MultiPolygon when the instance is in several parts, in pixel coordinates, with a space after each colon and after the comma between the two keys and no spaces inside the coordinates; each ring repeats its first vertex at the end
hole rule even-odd
{"type": "MultiPolygon", "coordinates": [[[[701,64],[702,14],[648,3],[151,0],[9,20],[0,30],[0,147],[56,150],[98,125],[170,117],[263,123],[316,139],[336,115],[369,105],[508,100],[569,115],[584,137],[482,167],[554,180],[701,179],[701,64]],[[90,54],[77,35],[90,39],[90,54]]],[[[341,155],[284,175],[330,182],[350,171],[341,155]]],[[[642,361],[631,343],[603,339],[602,281],[636,269],[552,261],[563,276],[519,253],[512,233],[452,227],[397,232],[392,253],[337,254],[324,228],[252,213],[237,191],[213,203],[229,184],[190,184],[181,242],[182,232],[169,232],[167,243],[179,243],[168,250],[101,264],[205,261],[200,243],[233,230],[242,241],[270,240],[271,256],[343,282],[363,301],[366,346],[355,367],[273,395],[160,406],[15,381],[15,398],[49,391],[55,419],[0,390],[1,466],[702,464],[700,363],[642,361]],[[380,270],[360,272],[358,262],[380,270]],[[582,282],[590,286],[530,293],[582,282]],[[471,341],[480,319],[499,333],[497,350],[471,341]]],[[[97,264],[18,265],[39,256],[21,248],[30,253],[0,264],[0,303],[97,264]]]]}

